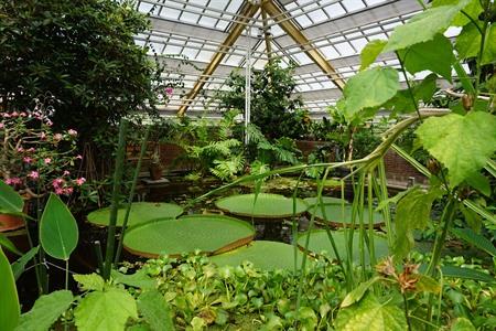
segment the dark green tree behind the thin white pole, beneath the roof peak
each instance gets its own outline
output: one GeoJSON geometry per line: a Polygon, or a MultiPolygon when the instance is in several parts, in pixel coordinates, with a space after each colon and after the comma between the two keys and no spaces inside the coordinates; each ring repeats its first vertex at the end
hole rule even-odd
{"type": "MultiPolygon", "coordinates": [[[[263,71],[251,74],[251,122],[269,139],[308,136],[310,118],[300,108],[301,96],[294,96],[296,81],[293,67],[282,68],[279,60],[269,61],[263,71]]],[[[245,77],[233,72],[226,82],[229,90],[220,92],[218,99],[224,109],[245,109],[245,77]]]]}

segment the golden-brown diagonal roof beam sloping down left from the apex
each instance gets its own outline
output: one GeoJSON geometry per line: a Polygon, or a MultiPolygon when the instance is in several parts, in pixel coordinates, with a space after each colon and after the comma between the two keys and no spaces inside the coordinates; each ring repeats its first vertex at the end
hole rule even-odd
{"type": "Polygon", "coordinates": [[[242,7],[239,10],[239,14],[237,17],[236,22],[234,22],[233,25],[229,28],[229,32],[226,40],[218,46],[217,52],[212,56],[211,62],[203,71],[202,75],[196,81],[193,88],[183,98],[183,105],[181,105],[177,111],[179,116],[184,115],[184,113],[187,110],[193,99],[198,95],[200,90],[205,85],[205,82],[206,79],[208,79],[208,76],[212,75],[218,67],[223,58],[226,56],[229,47],[236,42],[239,35],[241,35],[245,25],[249,23],[249,21],[255,15],[258,9],[259,4],[255,4],[252,3],[252,1],[248,0],[242,3],[242,7]]]}

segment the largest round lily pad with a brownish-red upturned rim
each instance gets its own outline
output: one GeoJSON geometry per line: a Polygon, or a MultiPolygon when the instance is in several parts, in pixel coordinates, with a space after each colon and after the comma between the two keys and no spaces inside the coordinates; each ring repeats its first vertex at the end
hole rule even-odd
{"type": "Polygon", "coordinates": [[[197,249],[217,254],[246,245],[254,236],[255,228],[245,221],[223,215],[190,215],[131,227],[123,245],[144,257],[179,256],[197,249]]]}

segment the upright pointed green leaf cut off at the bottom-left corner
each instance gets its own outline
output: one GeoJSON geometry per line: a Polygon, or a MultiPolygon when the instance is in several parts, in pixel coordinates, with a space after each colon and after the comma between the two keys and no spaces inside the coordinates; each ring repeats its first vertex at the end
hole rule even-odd
{"type": "Polygon", "coordinates": [[[19,307],[15,280],[9,260],[0,247],[0,325],[4,331],[12,331],[18,325],[21,308],[19,307]]]}

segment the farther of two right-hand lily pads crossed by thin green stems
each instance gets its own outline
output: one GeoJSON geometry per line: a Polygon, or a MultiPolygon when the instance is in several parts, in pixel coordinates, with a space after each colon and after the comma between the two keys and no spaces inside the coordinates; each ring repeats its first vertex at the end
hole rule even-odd
{"type": "MultiPolygon", "coordinates": [[[[327,203],[327,204],[324,204],[323,207],[325,211],[325,217],[322,212],[322,206],[320,206],[320,205],[310,206],[309,213],[311,215],[315,214],[315,218],[324,221],[324,222],[327,221],[334,226],[349,226],[349,224],[352,223],[352,215],[353,215],[352,204],[345,204],[344,217],[343,217],[343,210],[342,210],[343,205],[341,205],[341,204],[327,203]]],[[[379,225],[384,224],[384,217],[382,217],[381,213],[373,212],[373,216],[374,216],[374,221],[373,221],[374,226],[379,226],[379,225]]],[[[364,209],[364,223],[366,224],[366,226],[368,225],[368,220],[369,220],[368,209],[365,207],[364,209]]],[[[358,214],[355,217],[355,224],[356,224],[356,226],[358,226],[358,224],[359,224],[358,214]]]]}

